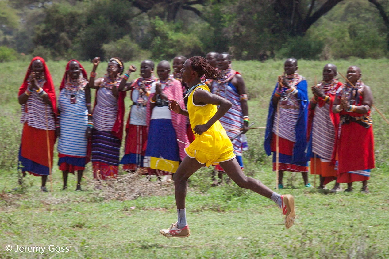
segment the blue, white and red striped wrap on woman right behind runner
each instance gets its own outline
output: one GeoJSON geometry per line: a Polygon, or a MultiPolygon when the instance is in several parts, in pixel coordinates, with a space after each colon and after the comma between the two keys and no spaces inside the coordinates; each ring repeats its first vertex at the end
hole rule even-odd
{"type": "MultiPolygon", "coordinates": [[[[217,94],[232,103],[232,107],[228,112],[221,117],[219,120],[223,125],[224,129],[240,129],[243,125],[243,113],[242,107],[240,106],[239,94],[237,89],[230,82],[224,82],[219,84],[214,80],[212,84],[212,93],[217,94]]],[[[234,137],[238,131],[227,131],[229,138],[234,137]]],[[[237,156],[242,156],[242,151],[248,149],[247,138],[245,134],[241,134],[239,137],[235,138],[232,142],[234,147],[234,154],[237,156]]]]}

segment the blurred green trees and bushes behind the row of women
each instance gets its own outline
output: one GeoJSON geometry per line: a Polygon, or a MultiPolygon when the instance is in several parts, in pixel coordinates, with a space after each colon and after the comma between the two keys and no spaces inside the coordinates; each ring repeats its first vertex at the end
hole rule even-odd
{"type": "Polygon", "coordinates": [[[209,51],[242,60],[382,58],[389,46],[388,2],[1,0],[0,61],[15,59],[16,52],[55,60],[160,60],[209,51]],[[301,28],[334,2],[308,30],[301,28]]]}

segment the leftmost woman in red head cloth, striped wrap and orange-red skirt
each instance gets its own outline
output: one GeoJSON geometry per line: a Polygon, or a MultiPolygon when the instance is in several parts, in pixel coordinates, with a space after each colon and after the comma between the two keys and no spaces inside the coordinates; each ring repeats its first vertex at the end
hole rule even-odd
{"type": "Polygon", "coordinates": [[[24,123],[19,150],[23,175],[42,176],[42,191],[47,191],[47,175],[53,166],[55,120],[57,114],[53,80],[43,58],[35,57],[19,88],[19,104],[24,123]]]}

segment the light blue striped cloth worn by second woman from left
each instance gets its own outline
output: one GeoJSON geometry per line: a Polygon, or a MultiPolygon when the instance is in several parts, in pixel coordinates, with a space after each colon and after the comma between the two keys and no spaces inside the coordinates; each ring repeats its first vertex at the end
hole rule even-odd
{"type": "Polygon", "coordinates": [[[77,94],[77,103],[70,103],[70,91],[62,89],[58,99],[60,111],[60,138],[58,152],[68,156],[86,156],[87,139],[85,131],[88,125],[85,91],[77,94]]]}

